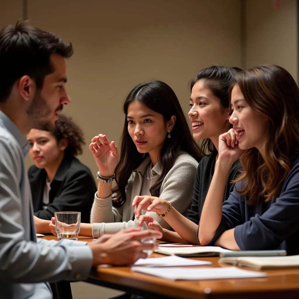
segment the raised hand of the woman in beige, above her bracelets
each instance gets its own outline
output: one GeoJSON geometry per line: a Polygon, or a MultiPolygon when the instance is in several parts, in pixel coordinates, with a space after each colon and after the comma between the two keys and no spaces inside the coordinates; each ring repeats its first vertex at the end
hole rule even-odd
{"type": "Polygon", "coordinates": [[[118,164],[118,150],[114,141],[110,143],[106,135],[99,134],[91,139],[89,149],[94,156],[101,176],[113,176],[115,167],[118,164]]]}

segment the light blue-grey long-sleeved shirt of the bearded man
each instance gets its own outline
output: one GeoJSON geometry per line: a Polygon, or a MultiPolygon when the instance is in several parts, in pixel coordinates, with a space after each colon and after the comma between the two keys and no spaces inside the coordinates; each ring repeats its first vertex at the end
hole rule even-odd
{"type": "Polygon", "coordinates": [[[3,299],[50,299],[47,281],[85,279],[92,252],[86,242],[36,241],[24,157],[29,145],[0,111],[0,288],[3,299]],[[83,245],[83,246],[82,246],[83,245]]]}

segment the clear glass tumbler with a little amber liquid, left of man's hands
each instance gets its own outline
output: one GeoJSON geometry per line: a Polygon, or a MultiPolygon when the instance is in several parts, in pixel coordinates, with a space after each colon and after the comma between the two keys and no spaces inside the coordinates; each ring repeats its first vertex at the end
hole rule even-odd
{"type": "Polygon", "coordinates": [[[57,240],[78,240],[81,212],[55,212],[54,216],[57,240]]]}

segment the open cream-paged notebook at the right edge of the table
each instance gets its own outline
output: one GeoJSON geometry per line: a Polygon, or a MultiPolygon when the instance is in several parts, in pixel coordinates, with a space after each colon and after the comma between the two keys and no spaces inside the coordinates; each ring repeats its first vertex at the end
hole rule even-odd
{"type": "Polygon", "coordinates": [[[286,257],[222,257],[218,263],[233,264],[254,269],[275,269],[299,267],[299,255],[286,257]]]}

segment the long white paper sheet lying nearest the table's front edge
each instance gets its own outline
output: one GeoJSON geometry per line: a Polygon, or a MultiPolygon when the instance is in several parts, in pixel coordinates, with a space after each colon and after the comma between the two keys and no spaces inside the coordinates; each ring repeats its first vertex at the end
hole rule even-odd
{"type": "Polygon", "coordinates": [[[206,280],[230,278],[266,277],[265,272],[255,272],[236,267],[221,268],[181,268],[181,267],[132,267],[132,271],[154,275],[170,280],[206,280]]]}

